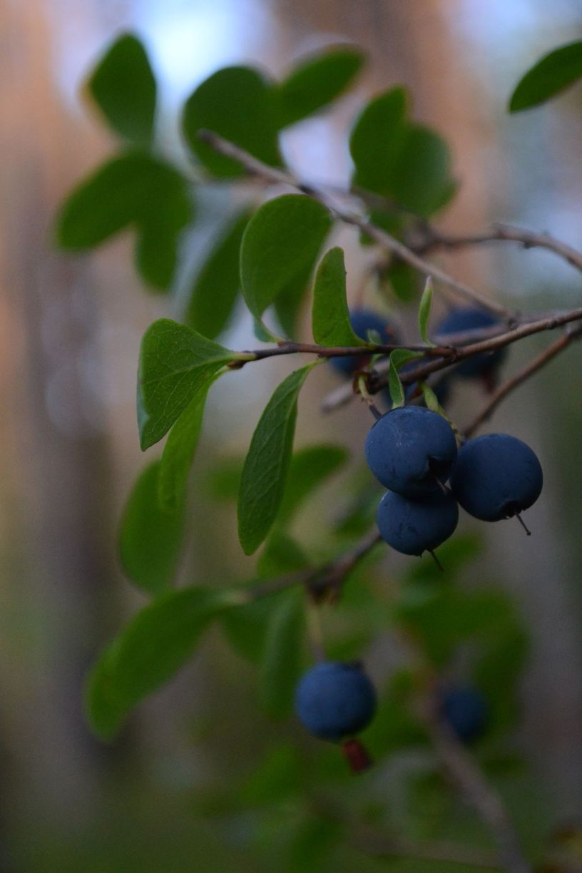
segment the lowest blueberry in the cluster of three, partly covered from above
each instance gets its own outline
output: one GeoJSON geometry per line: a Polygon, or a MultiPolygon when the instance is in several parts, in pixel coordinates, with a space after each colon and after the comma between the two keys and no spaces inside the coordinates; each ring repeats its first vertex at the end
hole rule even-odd
{"type": "Polygon", "coordinates": [[[448,540],[458,520],[455,498],[442,491],[422,500],[410,500],[387,491],[376,513],[380,536],[403,554],[432,552],[448,540]]]}

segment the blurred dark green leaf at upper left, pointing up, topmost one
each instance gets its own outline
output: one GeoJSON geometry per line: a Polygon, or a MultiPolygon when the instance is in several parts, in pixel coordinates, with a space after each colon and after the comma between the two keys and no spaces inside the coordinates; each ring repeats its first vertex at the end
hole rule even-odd
{"type": "Polygon", "coordinates": [[[116,134],[148,143],[154,133],[156,85],[146,50],[131,33],[107,50],[86,83],[94,101],[116,134]]]}

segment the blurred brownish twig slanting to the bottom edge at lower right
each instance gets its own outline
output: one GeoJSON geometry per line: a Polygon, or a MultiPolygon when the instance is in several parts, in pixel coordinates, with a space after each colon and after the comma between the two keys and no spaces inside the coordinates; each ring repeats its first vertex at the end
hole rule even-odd
{"type": "Polygon", "coordinates": [[[494,836],[503,870],[531,873],[503,801],[490,786],[476,760],[442,721],[434,705],[422,706],[420,714],[450,780],[494,836]]]}

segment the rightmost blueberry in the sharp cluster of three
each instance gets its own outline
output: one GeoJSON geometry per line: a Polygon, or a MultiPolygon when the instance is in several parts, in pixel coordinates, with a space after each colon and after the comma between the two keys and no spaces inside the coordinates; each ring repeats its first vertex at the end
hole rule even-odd
{"type": "Polygon", "coordinates": [[[470,515],[499,521],[534,504],[543,482],[542,467],[528,445],[516,436],[487,434],[463,445],[451,488],[470,515]]]}

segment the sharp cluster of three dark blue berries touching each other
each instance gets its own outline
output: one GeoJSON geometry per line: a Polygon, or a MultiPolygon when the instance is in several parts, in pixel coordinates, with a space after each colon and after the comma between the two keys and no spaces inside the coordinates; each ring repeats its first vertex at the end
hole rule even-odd
{"type": "Polygon", "coordinates": [[[447,420],[416,406],[381,416],[366,438],[366,460],[388,491],[377,523],[403,554],[433,552],[455,531],[457,503],[483,521],[509,519],[542,491],[535,453],[515,436],[487,434],[457,450],[447,420]]]}

